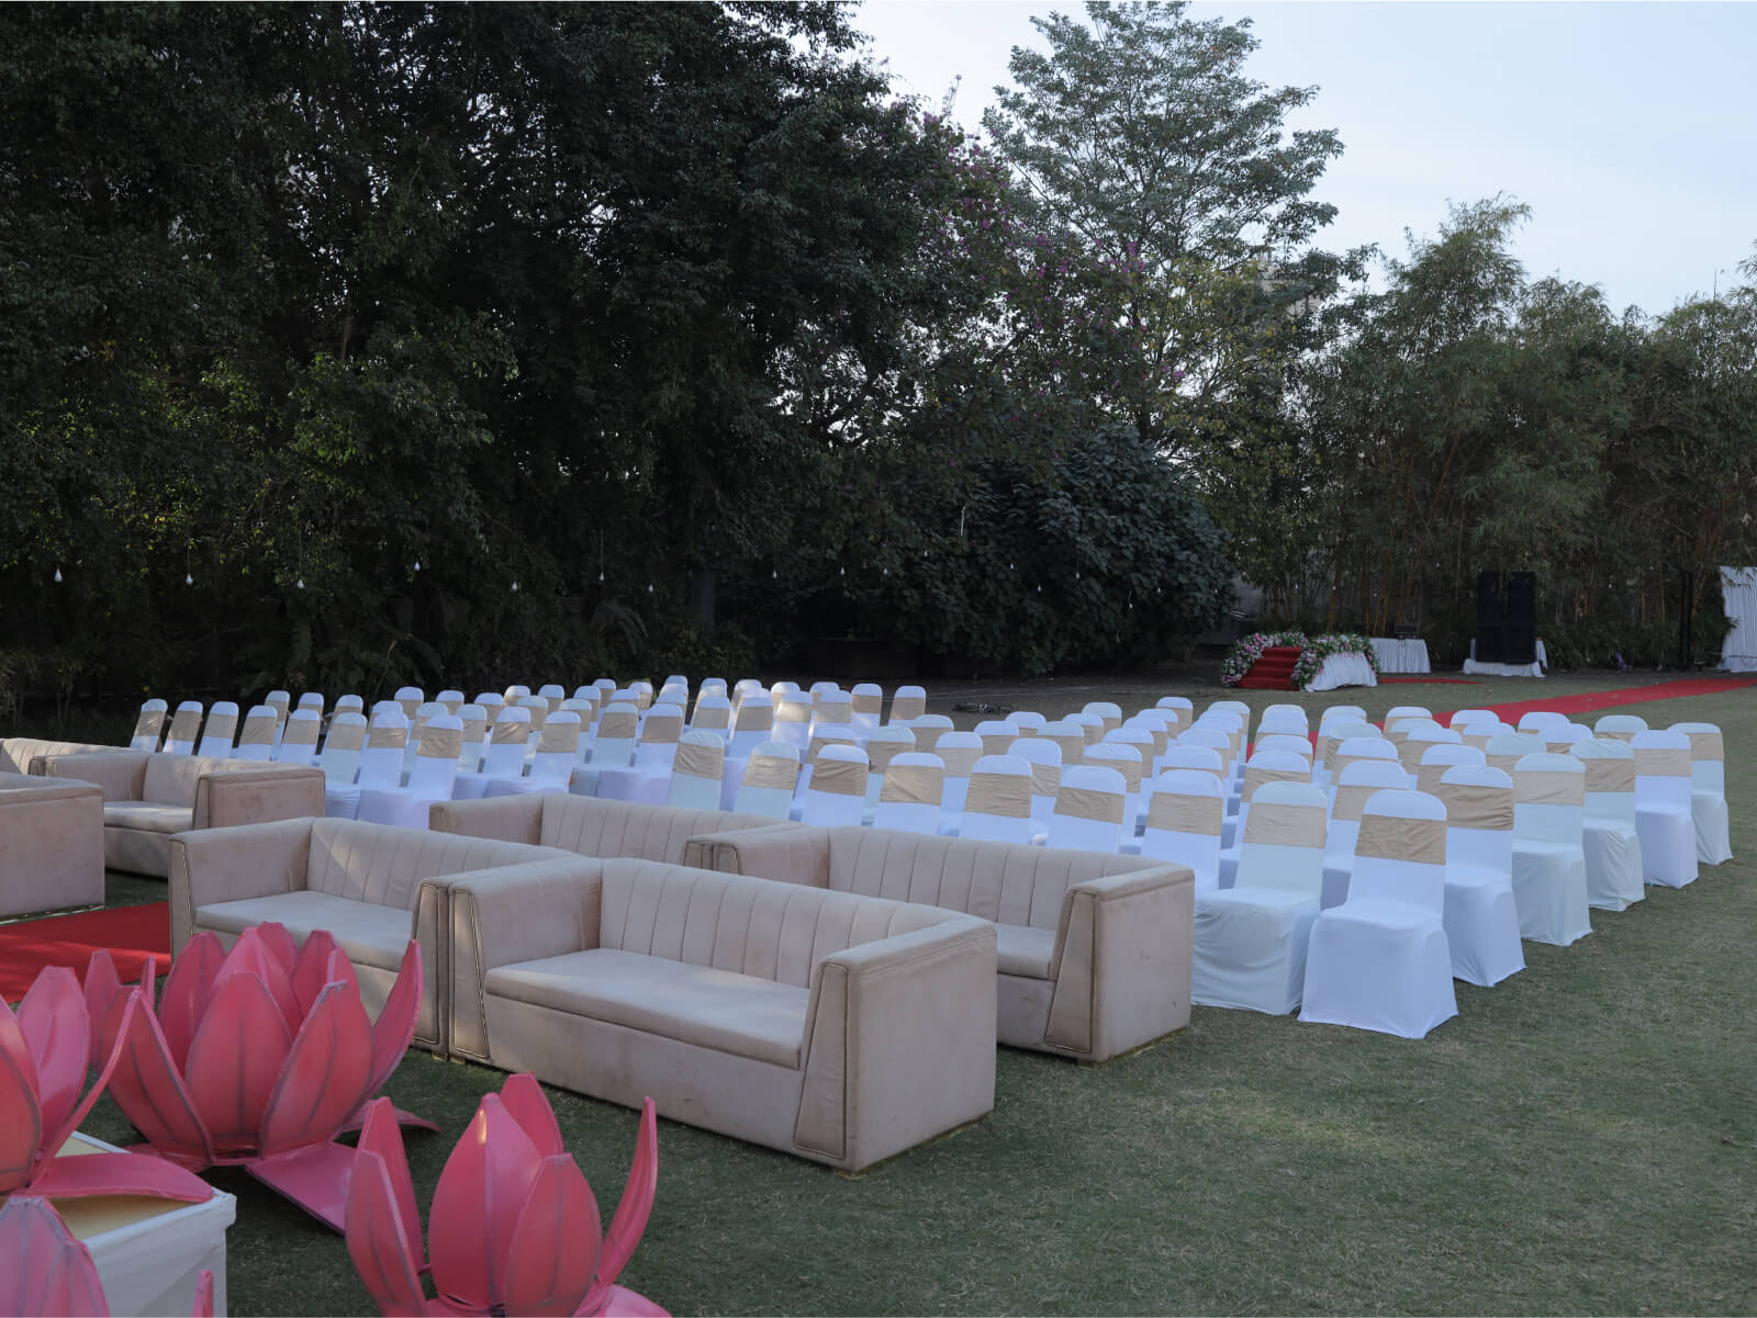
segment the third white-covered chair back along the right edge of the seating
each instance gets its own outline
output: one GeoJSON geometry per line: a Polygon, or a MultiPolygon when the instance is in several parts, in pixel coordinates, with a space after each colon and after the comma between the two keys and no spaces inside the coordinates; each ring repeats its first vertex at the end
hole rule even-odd
{"type": "MultiPolygon", "coordinates": [[[[1490,763],[1500,741],[1490,742],[1490,763]]],[[[1513,765],[1513,902],[1520,937],[1565,948],[1592,932],[1585,825],[1580,760],[1541,751],[1513,765]]]]}

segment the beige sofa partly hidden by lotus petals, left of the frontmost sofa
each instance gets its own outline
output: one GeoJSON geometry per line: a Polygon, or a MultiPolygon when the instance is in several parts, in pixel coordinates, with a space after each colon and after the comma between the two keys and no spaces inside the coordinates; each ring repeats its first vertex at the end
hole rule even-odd
{"type": "Polygon", "coordinates": [[[448,974],[443,883],[508,865],[520,872],[583,877],[590,862],[517,842],[446,837],[358,820],[283,820],[204,828],[170,839],[170,948],[211,928],[230,944],[274,920],[304,942],[334,935],[376,1016],[397,979],[409,939],[422,946],[422,1011],[415,1042],[445,1051],[448,974]]]}

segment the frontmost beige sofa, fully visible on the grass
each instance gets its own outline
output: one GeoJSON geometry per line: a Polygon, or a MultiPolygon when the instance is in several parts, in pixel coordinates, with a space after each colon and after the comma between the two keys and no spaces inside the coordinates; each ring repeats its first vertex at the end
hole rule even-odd
{"type": "Polygon", "coordinates": [[[585,862],[452,881],[452,1053],[859,1171],[994,1107],[994,927],[585,862]]]}

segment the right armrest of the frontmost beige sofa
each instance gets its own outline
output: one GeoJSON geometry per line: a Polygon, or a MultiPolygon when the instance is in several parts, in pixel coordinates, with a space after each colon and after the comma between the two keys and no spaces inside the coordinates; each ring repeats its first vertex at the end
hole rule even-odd
{"type": "Polygon", "coordinates": [[[994,925],[951,916],[812,969],[794,1144],[859,1171],[994,1109],[994,925]]]}

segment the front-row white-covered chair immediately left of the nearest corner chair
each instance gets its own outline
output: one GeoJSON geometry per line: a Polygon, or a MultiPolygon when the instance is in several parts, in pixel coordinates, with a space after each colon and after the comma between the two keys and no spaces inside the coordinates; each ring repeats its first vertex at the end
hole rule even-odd
{"type": "Polygon", "coordinates": [[[1321,790],[1270,783],[1256,793],[1237,883],[1197,895],[1191,1002],[1277,1016],[1300,1006],[1323,839],[1321,790]]]}

